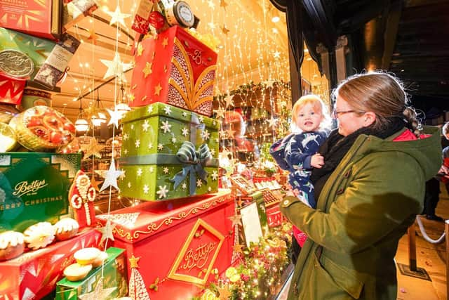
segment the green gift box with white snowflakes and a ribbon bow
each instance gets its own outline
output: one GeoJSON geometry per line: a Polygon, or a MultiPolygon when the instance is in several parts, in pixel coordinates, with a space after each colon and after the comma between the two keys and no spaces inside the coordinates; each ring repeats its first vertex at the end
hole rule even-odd
{"type": "Polygon", "coordinates": [[[159,201],[216,193],[219,127],[215,119],[165,103],[128,112],[121,195],[159,201]]]}

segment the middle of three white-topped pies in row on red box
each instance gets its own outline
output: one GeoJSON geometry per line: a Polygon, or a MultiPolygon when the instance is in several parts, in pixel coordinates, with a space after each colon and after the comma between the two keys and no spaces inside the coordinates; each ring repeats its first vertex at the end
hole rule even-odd
{"type": "Polygon", "coordinates": [[[39,222],[29,226],[23,233],[28,248],[37,250],[55,240],[55,228],[49,222],[39,222]]]}

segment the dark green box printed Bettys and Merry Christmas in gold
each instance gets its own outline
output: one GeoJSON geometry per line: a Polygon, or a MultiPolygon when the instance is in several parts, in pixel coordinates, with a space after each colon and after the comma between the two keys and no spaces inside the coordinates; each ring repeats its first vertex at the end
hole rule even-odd
{"type": "Polygon", "coordinates": [[[67,214],[69,188],[80,164],[80,154],[1,153],[0,232],[22,232],[67,214]]]}

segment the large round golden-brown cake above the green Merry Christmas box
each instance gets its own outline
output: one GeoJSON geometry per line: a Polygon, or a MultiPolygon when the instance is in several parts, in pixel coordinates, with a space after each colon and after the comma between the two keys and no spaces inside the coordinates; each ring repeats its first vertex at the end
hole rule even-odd
{"type": "Polygon", "coordinates": [[[32,151],[60,148],[72,141],[75,126],[67,117],[48,106],[35,106],[21,112],[9,123],[18,142],[32,151]]]}

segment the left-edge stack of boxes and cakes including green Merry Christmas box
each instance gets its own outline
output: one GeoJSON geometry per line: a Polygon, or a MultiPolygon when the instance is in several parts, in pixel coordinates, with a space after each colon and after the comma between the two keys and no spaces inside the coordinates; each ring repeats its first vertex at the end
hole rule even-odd
{"type": "Polygon", "coordinates": [[[66,30],[96,8],[0,1],[0,299],[54,293],[74,252],[100,242],[98,230],[69,218],[81,155],[62,154],[72,149],[74,124],[50,107],[80,44],[66,30]]]}

